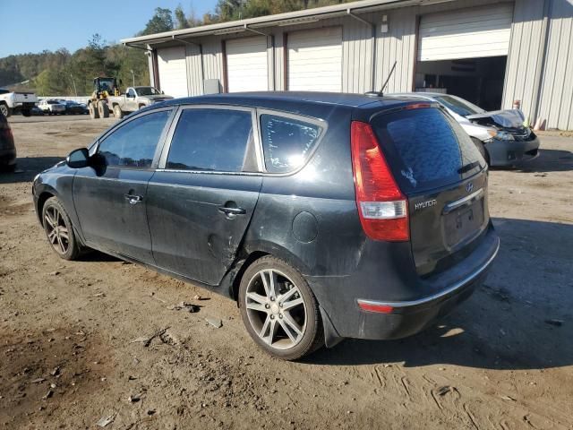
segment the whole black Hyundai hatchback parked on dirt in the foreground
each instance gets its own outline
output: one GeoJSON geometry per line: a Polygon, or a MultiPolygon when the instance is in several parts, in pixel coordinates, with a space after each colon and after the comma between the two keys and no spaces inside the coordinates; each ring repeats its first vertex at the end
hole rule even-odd
{"type": "Polygon", "coordinates": [[[33,195],[64,259],[93,248],[199,282],[295,359],[414,334],[468,297],[499,248],[487,186],[437,104],[267,92],[141,109],[33,195]]]}

